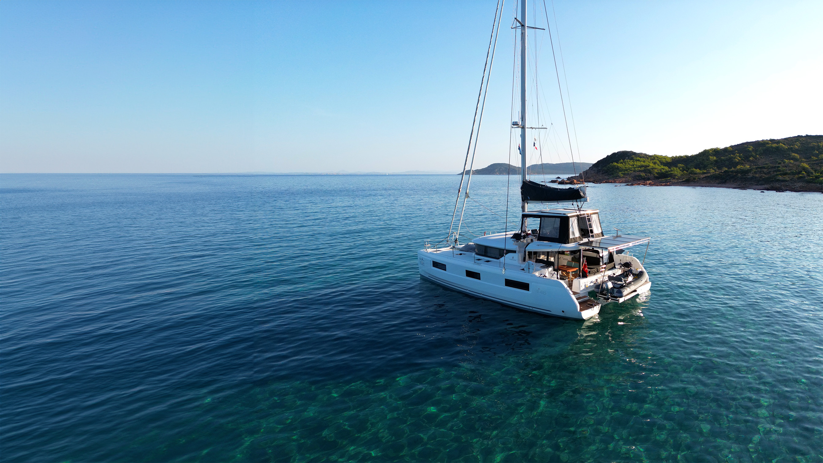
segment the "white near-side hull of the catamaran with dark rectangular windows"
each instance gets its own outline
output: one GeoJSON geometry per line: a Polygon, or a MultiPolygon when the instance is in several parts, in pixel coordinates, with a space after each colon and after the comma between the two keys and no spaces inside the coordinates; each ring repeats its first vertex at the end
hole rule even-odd
{"type": "Polygon", "coordinates": [[[504,269],[497,260],[476,260],[472,254],[455,255],[453,250],[420,250],[417,252],[417,266],[421,277],[431,282],[527,311],[577,320],[586,320],[600,311],[599,304],[591,308],[584,305],[584,310],[580,311],[579,303],[565,282],[528,274],[516,264],[507,264],[504,269]],[[433,260],[441,265],[435,266],[433,260]],[[467,271],[477,274],[476,278],[467,276],[467,271]]]}

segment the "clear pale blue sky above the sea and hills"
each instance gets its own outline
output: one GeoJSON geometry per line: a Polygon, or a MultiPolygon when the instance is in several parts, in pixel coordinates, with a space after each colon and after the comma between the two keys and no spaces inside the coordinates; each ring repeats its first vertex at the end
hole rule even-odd
{"type": "MultiPolygon", "coordinates": [[[[0,2],[0,171],[459,171],[495,3],[0,2]]],[[[823,2],[553,7],[583,161],[823,133],[823,2]]],[[[476,166],[509,155],[513,9],[476,166]]]]}

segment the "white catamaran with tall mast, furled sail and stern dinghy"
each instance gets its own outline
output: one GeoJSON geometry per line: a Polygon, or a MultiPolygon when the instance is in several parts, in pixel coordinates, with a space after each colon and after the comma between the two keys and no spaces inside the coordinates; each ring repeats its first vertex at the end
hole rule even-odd
{"type": "MultiPolygon", "coordinates": [[[[520,117],[512,123],[512,129],[519,129],[520,147],[526,147],[527,129],[542,129],[531,128],[526,124],[527,32],[528,29],[540,28],[527,26],[526,0],[519,2],[519,17],[514,18],[513,29],[519,29],[520,117]]],[[[489,73],[491,64],[494,63],[496,37],[500,30],[502,15],[498,15],[498,12],[502,12],[500,3],[492,26],[494,47],[491,39],[489,44],[491,60],[489,54],[486,54],[489,73]]],[[[547,16],[546,14],[546,23],[547,16]]],[[[486,68],[483,74],[481,93],[477,99],[480,119],[477,119],[477,109],[475,110],[478,133],[486,101],[485,92],[488,90],[486,68]]],[[[558,75],[558,84],[559,82],[558,75]]],[[[476,150],[477,133],[474,124],[469,137],[467,161],[469,152],[472,151],[472,136],[476,150]]],[[[553,188],[528,180],[526,151],[520,149],[522,212],[519,230],[476,236],[473,241],[461,246],[459,230],[466,208],[468,186],[472,180],[472,153],[469,170],[466,170],[466,163],[463,165],[449,236],[441,241],[446,246],[429,246],[427,242],[425,249],[417,253],[421,277],[444,287],[508,306],[581,320],[597,315],[602,304],[624,302],[649,291],[651,282],[643,263],[625,252],[626,248],[644,244],[648,249],[649,238],[621,236],[619,233],[604,236],[600,211],[583,208],[588,201],[586,186],[553,188]],[[464,181],[466,193],[463,209],[457,232],[453,232],[464,181]],[[546,207],[557,203],[565,203],[569,207],[528,210],[529,204],[542,204],[546,207]]]]}

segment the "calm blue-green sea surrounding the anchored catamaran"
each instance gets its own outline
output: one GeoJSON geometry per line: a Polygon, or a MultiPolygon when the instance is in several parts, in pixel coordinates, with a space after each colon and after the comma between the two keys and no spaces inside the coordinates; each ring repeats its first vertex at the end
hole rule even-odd
{"type": "Polygon", "coordinates": [[[823,194],[593,185],[577,322],[418,277],[457,181],[0,175],[0,459],[823,461],[823,194]]]}

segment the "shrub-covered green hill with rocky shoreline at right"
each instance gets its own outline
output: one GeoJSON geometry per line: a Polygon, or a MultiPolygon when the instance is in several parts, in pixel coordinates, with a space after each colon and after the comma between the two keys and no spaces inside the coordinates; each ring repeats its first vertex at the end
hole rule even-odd
{"type": "MultiPolygon", "coordinates": [[[[613,152],[583,173],[586,181],[823,189],[823,135],[798,135],[709,148],[690,156],[613,152]]],[[[579,177],[576,177],[579,178],[579,177]]]]}

